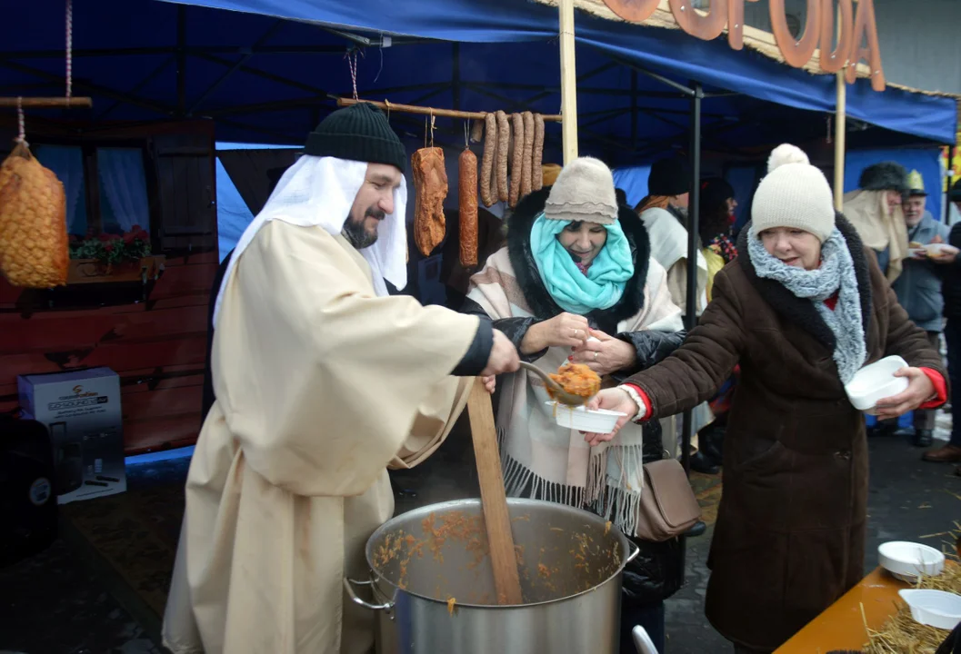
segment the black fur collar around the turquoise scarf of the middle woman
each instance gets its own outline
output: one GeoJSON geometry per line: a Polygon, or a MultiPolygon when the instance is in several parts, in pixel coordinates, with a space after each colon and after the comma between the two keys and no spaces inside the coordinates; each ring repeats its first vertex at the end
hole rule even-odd
{"type": "MultiPolygon", "coordinates": [[[[524,291],[530,311],[540,319],[553,318],[562,309],[544,288],[537,273],[533,254],[530,252],[530,230],[534,219],[544,210],[550,186],[534,191],[523,198],[507,219],[507,254],[510,265],[517,276],[517,283],[524,291]]],[[[628,279],[624,295],[618,303],[608,309],[596,309],[587,314],[593,327],[604,331],[615,329],[616,325],[633,316],[644,307],[644,286],[648,279],[648,265],[651,261],[651,242],[648,231],[641,219],[628,206],[621,206],[618,220],[630,243],[630,253],[634,259],[634,276],[628,279]]]]}

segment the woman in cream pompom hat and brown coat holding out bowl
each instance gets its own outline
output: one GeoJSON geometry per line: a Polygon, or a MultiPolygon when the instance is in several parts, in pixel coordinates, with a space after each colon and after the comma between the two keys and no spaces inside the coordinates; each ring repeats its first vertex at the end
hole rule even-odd
{"type": "Polygon", "coordinates": [[[947,384],[941,357],[800,149],[772,153],[737,249],[684,345],[592,405],[643,423],[711,397],[740,364],[706,615],[735,651],[771,652],[863,573],[868,448],[844,384],[902,356],[908,388],[878,402],[881,418],[943,403],[947,384]]]}

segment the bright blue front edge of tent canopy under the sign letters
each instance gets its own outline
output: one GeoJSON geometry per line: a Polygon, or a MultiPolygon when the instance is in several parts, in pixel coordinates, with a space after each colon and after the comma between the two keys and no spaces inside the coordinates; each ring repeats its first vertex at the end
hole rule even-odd
{"type": "MultiPolygon", "coordinates": [[[[474,43],[551,39],[557,33],[555,9],[522,0],[191,0],[199,5],[298,20],[474,43]]],[[[678,80],[697,80],[798,109],[832,111],[832,76],[813,76],[759,54],[732,51],[724,37],[702,41],[678,30],[650,29],[579,13],[580,44],[652,68],[678,80]]],[[[579,49],[579,54],[584,48],[579,49]]],[[[524,58],[510,65],[523,67],[524,58]]],[[[957,107],[949,98],[871,89],[867,80],[852,85],[848,113],[858,120],[942,143],[953,143],[957,107]]]]}

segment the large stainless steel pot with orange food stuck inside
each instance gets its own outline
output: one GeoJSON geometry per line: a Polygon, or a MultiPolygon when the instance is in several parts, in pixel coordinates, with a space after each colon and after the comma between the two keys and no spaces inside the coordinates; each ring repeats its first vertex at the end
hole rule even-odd
{"type": "Polygon", "coordinates": [[[479,499],[431,504],[374,532],[370,579],[344,586],[379,612],[380,654],[618,650],[621,574],[637,548],[603,518],[563,504],[508,498],[507,510],[527,602],[517,606],[497,604],[479,499]]]}

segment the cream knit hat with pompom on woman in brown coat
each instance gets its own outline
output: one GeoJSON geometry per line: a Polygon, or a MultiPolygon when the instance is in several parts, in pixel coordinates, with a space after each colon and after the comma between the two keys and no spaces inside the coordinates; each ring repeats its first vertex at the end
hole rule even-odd
{"type": "Polygon", "coordinates": [[[751,235],[793,227],[809,231],[824,243],[834,231],[830,184],[811,165],[801,148],[779,145],[768,159],[768,174],[758,184],[751,207],[751,235]]]}

